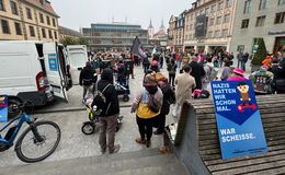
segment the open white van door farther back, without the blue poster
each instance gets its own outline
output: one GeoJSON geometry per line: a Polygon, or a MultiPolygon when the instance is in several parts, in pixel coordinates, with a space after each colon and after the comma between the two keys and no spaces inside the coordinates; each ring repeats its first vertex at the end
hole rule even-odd
{"type": "Polygon", "coordinates": [[[70,61],[70,73],[73,84],[79,84],[80,71],[86,67],[88,52],[86,45],[67,46],[67,54],[70,61]]]}

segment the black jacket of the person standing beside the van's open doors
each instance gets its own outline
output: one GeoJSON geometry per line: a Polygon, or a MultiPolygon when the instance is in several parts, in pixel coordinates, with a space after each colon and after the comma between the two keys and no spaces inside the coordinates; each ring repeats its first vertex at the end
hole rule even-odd
{"type": "Polygon", "coordinates": [[[92,83],[96,82],[96,74],[92,67],[84,67],[79,77],[80,85],[92,85],[92,83]]]}

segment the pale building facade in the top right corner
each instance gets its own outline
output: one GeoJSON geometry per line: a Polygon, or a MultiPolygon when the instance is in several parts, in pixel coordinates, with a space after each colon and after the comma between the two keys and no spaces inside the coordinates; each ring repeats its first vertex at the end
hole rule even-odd
{"type": "Polygon", "coordinates": [[[259,38],[267,52],[285,45],[285,0],[238,0],[235,18],[231,52],[254,52],[259,38]]]}

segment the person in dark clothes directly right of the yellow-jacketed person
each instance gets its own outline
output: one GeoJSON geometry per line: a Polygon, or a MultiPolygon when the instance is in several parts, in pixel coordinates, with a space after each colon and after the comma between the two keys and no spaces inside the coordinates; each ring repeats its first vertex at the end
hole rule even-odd
{"type": "Polygon", "coordinates": [[[168,79],[166,77],[157,79],[157,82],[163,94],[163,101],[160,114],[158,116],[158,129],[153,133],[162,135],[164,133],[166,116],[169,114],[170,105],[175,103],[175,93],[168,83],[168,79]]]}

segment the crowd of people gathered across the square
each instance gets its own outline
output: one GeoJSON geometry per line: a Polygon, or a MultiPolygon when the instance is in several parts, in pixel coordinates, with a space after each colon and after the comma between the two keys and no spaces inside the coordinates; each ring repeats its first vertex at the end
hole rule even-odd
{"type": "MultiPolygon", "coordinates": [[[[233,54],[217,52],[217,54],[195,54],[195,52],[157,52],[146,54],[147,57],[140,58],[132,54],[119,55],[94,55],[90,57],[87,67],[81,71],[80,85],[83,85],[83,97],[88,89],[96,82],[94,70],[100,69],[102,72],[101,80],[98,82],[99,90],[104,91],[103,95],[106,98],[106,105],[102,116],[100,116],[100,145],[102,152],[109,148],[110,153],[118,151],[119,145],[114,144],[115,118],[118,116],[118,98],[115,97],[116,91],[113,85],[113,72],[119,70],[119,65],[124,65],[125,59],[132,60],[129,75],[134,78],[134,67],[142,65],[144,80],[139,93],[136,95],[132,105],[132,113],[136,115],[136,122],[140,137],[135,139],[139,144],[146,144],[147,148],[151,144],[152,133],[161,135],[164,132],[166,116],[170,113],[170,105],[174,104],[172,116],[179,119],[181,106],[187,100],[193,97],[193,94],[201,93],[204,90],[209,90],[209,83],[214,80],[235,81],[248,80],[246,78],[246,63],[249,60],[247,51],[239,52],[236,57],[237,68],[232,67],[233,54]],[[109,67],[102,66],[103,60],[109,60],[109,67]],[[161,72],[166,62],[168,77],[161,72]],[[92,68],[92,69],[91,69],[92,68]],[[221,68],[220,77],[218,78],[218,69],[221,68]],[[88,72],[90,77],[88,77],[88,72]],[[110,88],[106,88],[111,84],[110,88]],[[110,107],[112,105],[112,107],[110,107]],[[153,127],[157,130],[153,131],[153,127]],[[106,144],[106,133],[109,133],[109,144],[106,144]],[[107,145],[107,147],[106,147],[107,145]]],[[[285,93],[285,48],[282,48],[277,55],[269,55],[264,58],[263,67],[259,70],[271,74],[274,86],[277,93],[285,93]],[[269,73],[271,71],[272,73],[269,73]]],[[[250,77],[254,81],[253,72],[250,77]],[[252,78],[253,77],[253,78],[252,78]]],[[[119,81],[119,80],[118,80],[119,81]]],[[[208,97],[208,95],[206,96],[208,97]]]]}

